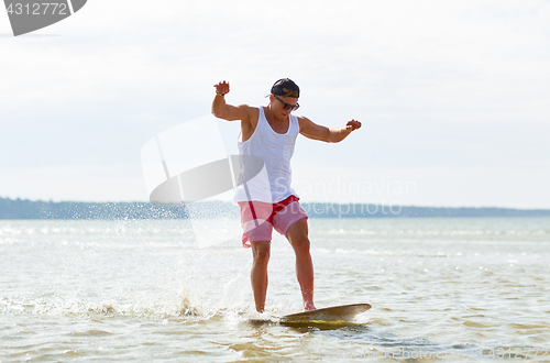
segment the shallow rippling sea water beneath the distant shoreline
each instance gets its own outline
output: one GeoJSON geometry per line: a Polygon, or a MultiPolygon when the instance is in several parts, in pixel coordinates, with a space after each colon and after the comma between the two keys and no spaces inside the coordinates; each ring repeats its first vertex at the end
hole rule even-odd
{"type": "Polygon", "coordinates": [[[550,361],[550,218],[310,219],[317,307],[373,306],[336,329],[272,318],[301,310],[286,240],[260,316],[251,251],[205,223],[228,240],[188,220],[0,221],[0,362],[550,361]]]}

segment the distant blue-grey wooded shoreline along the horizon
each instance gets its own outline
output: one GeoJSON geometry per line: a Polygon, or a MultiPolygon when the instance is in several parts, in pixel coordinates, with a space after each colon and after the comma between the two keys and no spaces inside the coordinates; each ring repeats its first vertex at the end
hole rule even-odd
{"type": "MultiPolygon", "coordinates": [[[[372,204],[302,202],[310,218],[486,218],[550,217],[549,209],[400,207],[372,204]]],[[[0,198],[0,219],[186,219],[238,217],[227,201],[204,201],[176,207],[150,202],[42,201],[0,198]]]]}

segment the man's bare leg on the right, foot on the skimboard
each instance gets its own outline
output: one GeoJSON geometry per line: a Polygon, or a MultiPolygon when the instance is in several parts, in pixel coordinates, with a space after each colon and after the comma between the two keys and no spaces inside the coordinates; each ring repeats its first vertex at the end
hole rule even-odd
{"type": "Polygon", "coordinates": [[[314,305],[314,262],[309,253],[308,239],[308,222],[302,218],[293,223],[287,232],[286,238],[290,242],[296,254],[296,276],[301,288],[301,297],[304,298],[304,308],[306,310],[315,310],[314,305]]]}

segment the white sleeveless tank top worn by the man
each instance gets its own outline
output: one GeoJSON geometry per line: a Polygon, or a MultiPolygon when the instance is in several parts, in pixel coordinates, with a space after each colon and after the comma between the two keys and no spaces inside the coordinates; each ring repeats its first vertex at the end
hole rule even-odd
{"type": "MultiPolygon", "coordinates": [[[[288,119],[287,132],[277,133],[267,122],[264,108],[260,107],[257,125],[252,136],[242,141],[241,134],[238,142],[239,154],[260,157],[264,162],[264,167],[252,179],[235,187],[234,201],[257,200],[275,204],[292,195],[297,196],[290,187],[290,158],[300,127],[297,117],[289,114],[288,119]]],[[[246,178],[240,175],[240,180],[246,178]]]]}

